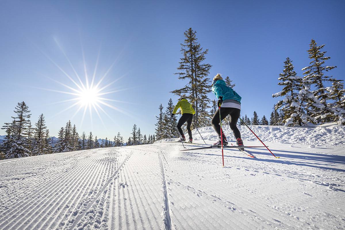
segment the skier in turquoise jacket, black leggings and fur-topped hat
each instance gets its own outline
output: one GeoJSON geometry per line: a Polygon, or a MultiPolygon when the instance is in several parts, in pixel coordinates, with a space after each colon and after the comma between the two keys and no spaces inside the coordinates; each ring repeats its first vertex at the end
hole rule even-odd
{"type": "Polygon", "coordinates": [[[219,137],[219,141],[214,143],[214,145],[221,145],[221,138],[223,138],[223,145],[226,146],[228,144],[224,132],[223,137],[220,137],[220,110],[220,116],[222,120],[226,116],[230,116],[230,128],[233,131],[234,136],[236,138],[237,146],[243,146],[241,133],[236,125],[241,112],[241,97],[231,87],[226,86],[225,81],[223,81],[223,78],[220,76],[219,73],[213,78],[212,92],[218,98],[218,109],[211,120],[211,124],[215,131],[218,133],[219,137]]]}

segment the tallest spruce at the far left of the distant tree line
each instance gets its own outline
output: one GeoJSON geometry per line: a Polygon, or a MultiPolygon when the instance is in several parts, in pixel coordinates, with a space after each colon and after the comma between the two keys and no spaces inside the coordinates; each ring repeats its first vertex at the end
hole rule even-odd
{"type": "Polygon", "coordinates": [[[18,102],[14,113],[16,117],[12,117],[13,122],[5,123],[2,129],[9,129],[12,133],[7,141],[8,149],[5,152],[5,157],[20,158],[28,157],[31,155],[28,143],[28,128],[30,125],[29,118],[31,117],[29,107],[22,101],[18,102]]]}

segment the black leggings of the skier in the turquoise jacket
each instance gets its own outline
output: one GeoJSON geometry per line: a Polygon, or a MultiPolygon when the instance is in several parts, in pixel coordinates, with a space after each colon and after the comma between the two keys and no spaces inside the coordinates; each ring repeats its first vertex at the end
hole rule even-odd
{"type": "MultiPolygon", "coordinates": [[[[237,129],[237,120],[239,118],[241,110],[237,108],[228,108],[228,107],[220,107],[220,116],[221,120],[223,120],[226,116],[230,115],[230,128],[234,132],[235,138],[241,138],[241,133],[237,129]]],[[[213,128],[218,133],[218,136],[220,136],[220,125],[219,125],[219,109],[217,109],[216,113],[213,115],[213,118],[211,120],[211,124],[213,128]]]]}

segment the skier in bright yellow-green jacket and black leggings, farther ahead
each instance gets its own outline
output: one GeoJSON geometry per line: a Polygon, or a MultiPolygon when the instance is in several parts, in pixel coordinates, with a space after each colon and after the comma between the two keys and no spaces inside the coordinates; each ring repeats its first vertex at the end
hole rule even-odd
{"type": "Polygon", "coordinates": [[[183,131],[181,129],[182,125],[187,121],[187,130],[189,135],[189,142],[191,143],[193,141],[192,137],[192,131],[190,130],[190,126],[192,124],[193,120],[193,114],[195,114],[195,110],[193,109],[192,105],[187,101],[185,98],[181,98],[179,102],[177,102],[174,110],[172,111],[171,116],[173,116],[178,108],[180,108],[182,116],[177,122],[177,129],[179,133],[181,134],[181,141],[185,141],[185,135],[183,134],[183,131]]]}

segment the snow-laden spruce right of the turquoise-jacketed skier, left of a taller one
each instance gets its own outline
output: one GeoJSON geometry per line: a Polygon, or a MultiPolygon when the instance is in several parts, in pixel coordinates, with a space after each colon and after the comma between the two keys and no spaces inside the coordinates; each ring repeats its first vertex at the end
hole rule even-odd
{"type": "MultiPolygon", "coordinates": [[[[299,94],[305,87],[303,85],[303,79],[296,76],[294,66],[290,58],[286,58],[284,62],[283,73],[279,74],[281,82],[279,86],[283,86],[283,90],[275,93],[272,97],[284,97],[285,98],[275,105],[274,119],[275,124],[278,125],[280,120],[283,120],[285,126],[302,126],[305,121],[311,121],[312,119],[306,114],[303,106],[302,94],[299,94]],[[280,109],[284,114],[283,118],[278,118],[277,109],[280,109]],[[279,121],[278,121],[279,120],[279,121]]],[[[272,114],[271,114],[272,116],[272,114]]]]}

